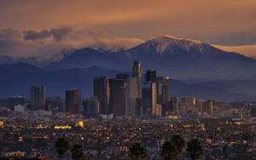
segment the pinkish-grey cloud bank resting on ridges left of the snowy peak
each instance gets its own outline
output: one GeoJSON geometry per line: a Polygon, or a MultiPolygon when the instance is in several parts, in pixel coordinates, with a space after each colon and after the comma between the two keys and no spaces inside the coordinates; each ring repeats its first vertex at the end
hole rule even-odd
{"type": "Polygon", "coordinates": [[[116,50],[129,49],[139,38],[111,37],[104,28],[53,28],[41,31],[0,29],[0,54],[14,57],[48,57],[65,48],[101,47],[116,50]]]}

